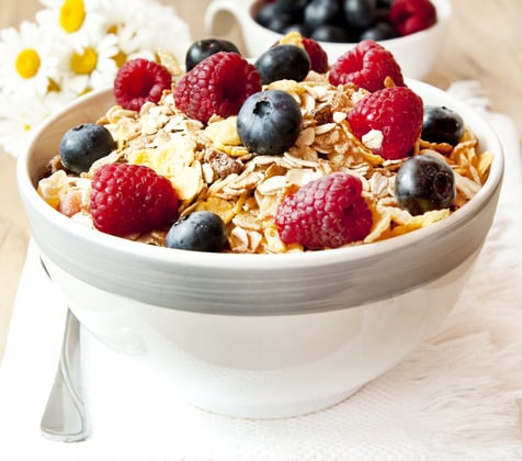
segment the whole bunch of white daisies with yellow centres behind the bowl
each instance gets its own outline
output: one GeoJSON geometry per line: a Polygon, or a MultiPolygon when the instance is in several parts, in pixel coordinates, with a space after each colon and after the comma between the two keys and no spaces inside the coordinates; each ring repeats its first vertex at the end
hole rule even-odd
{"type": "Polygon", "coordinates": [[[184,60],[192,43],[171,7],[152,0],[41,0],[36,22],[0,32],[0,145],[14,156],[34,127],[118,67],[167,50],[184,60]]]}

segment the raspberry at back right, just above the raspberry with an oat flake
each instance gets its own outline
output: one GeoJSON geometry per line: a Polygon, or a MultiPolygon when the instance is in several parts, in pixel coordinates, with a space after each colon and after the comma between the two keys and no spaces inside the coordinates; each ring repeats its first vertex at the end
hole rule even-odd
{"type": "Polygon", "coordinates": [[[352,82],[373,92],[385,87],[386,77],[392,78],[397,87],[405,86],[394,55],[378,43],[364,40],[338,58],[328,79],[331,85],[352,82]]]}

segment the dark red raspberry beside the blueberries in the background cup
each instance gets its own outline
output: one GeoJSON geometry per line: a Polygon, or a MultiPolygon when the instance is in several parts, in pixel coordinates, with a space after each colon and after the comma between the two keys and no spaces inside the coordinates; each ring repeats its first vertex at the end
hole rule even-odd
{"type": "Polygon", "coordinates": [[[395,0],[388,19],[399,35],[409,35],[432,26],[436,10],[430,0],[395,0]]]}

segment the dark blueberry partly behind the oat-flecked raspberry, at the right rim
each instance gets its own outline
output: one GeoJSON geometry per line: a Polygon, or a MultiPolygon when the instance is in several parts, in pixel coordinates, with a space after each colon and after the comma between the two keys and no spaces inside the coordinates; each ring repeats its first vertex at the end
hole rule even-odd
{"type": "Polygon", "coordinates": [[[464,135],[464,120],[444,105],[424,105],[420,137],[430,143],[458,144],[464,135]]]}

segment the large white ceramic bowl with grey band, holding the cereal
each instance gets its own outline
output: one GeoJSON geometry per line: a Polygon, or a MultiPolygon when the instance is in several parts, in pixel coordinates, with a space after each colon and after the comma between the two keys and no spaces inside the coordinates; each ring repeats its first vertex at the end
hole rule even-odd
{"type": "Polygon", "coordinates": [[[47,120],[19,159],[34,240],[81,323],[171,374],[173,395],[245,417],[332,405],[436,330],[497,206],[503,157],[495,133],[441,90],[408,85],[425,103],[458,111],[496,155],[478,194],[430,227],[370,245],[263,256],[166,249],[83,227],[47,205],[35,184],[63,133],[113,104],[107,90],[47,120]]]}

